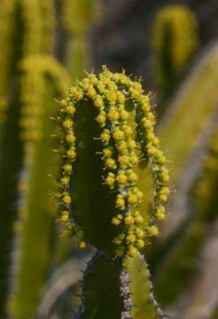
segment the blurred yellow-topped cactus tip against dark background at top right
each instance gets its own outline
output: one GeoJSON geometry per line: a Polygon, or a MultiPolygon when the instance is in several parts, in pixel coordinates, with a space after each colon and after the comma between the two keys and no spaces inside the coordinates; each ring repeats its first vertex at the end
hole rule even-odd
{"type": "Polygon", "coordinates": [[[161,8],[152,27],[152,50],[163,97],[172,94],[198,46],[198,22],[191,10],[183,4],[161,8]]]}

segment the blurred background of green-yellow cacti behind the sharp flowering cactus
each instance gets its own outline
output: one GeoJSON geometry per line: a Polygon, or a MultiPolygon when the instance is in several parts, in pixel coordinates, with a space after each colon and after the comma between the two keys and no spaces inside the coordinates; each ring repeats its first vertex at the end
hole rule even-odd
{"type": "Polygon", "coordinates": [[[218,2],[0,0],[0,48],[0,318],[74,318],[93,248],[58,235],[50,116],[102,65],[156,96],[172,181],[144,252],[157,300],[172,318],[218,318],[218,2]]]}

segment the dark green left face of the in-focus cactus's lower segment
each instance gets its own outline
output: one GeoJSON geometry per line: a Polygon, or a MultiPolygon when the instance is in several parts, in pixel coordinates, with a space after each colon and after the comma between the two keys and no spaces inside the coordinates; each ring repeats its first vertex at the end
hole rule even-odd
{"type": "Polygon", "coordinates": [[[119,265],[113,261],[106,261],[105,257],[97,252],[88,262],[84,272],[82,305],[77,312],[78,318],[119,318],[121,316],[119,275],[119,265]]]}

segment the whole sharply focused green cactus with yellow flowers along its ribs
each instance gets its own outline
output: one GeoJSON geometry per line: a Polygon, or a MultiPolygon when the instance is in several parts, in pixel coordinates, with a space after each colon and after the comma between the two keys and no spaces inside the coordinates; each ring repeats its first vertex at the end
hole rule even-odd
{"type": "MultiPolygon", "coordinates": [[[[137,253],[144,244],[149,244],[151,237],[159,236],[157,221],[164,219],[169,193],[166,158],[153,132],[155,117],[149,100],[140,82],[132,82],[124,71],[112,74],[104,67],[98,77],[89,74],[69,89],[66,100],[60,101],[57,116],[62,164],[56,198],[61,231],[78,237],[81,248],[86,240],[97,246],[97,259],[102,266],[91,261],[84,278],[91,291],[103,289],[102,280],[89,276],[92,271],[105,278],[105,293],[110,293],[113,287],[119,294],[119,273],[121,282],[127,279],[121,294],[129,289],[133,298],[128,300],[130,294],[124,293],[123,311],[118,307],[119,300],[114,300],[118,308],[109,313],[117,316],[117,311],[122,318],[130,317],[130,313],[133,318],[161,317],[152,306],[153,316],[149,315],[149,280],[144,260],[137,253]],[[147,203],[142,192],[147,183],[144,175],[149,175],[147,166],[153,175],[151,214],[144,210],[147,203]],[[105,258],[116,262],[107,265],[105,258]],[[106,267],[116,277],[113,283],[105,282],[106,267]],[[140,272],[140,277],[144,276],[141,287],[144,298],[136,292],[140,272]],[[135,305],[140,306],[136,309],[135,305]]],[[[82,306],[77,315],[99,317],[102,307],[110,310],[109,305],[103,306],[107,301],[95,300],[95,295],[89,297],[86,293],[89,292],[82,292],[82,306]]]]}

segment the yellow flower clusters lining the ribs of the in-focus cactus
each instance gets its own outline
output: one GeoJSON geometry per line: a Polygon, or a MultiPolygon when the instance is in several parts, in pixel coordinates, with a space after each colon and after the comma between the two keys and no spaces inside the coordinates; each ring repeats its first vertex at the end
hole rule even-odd
{"type": "MultiPolygon", "coordinates": [[[[149,97],[144,95],[140,82],[132,82],[125,72],[113,74],[105,67],[97,77],[89,74],[76,86],[69,89],[66,100],[61,101],[59,119],[61,123],[60,140],[64,145],[64,164],[58,179],[60,193],[58,199],[64,206],[60,222],[68,223],[71,215],[71,198],[69,192],[72,164],[76,159],[76,136],[74,136],[74,113],[76,106],[83,99],[90,99],[97,109],[96,121],[102,128],[99,139],[102,143],[102,160],[104,163],[104,183],[116,194],[114,206],[117,213],[112,223],[121,226],[121,234],[113,238],[117,246],[116,256],[128,253],[134,256],[138,249],[144,247],[146,237],[158,236],[160,231],[156,220],[164,219],[165,206],[169,189],[167,187],[168,171],[164,166],[165,156],[160,151],[159,139],[154,135],[155,117],[150,111],[149,97]],[[133,105],[128,111],[127,101],[133,105]],[[135,124],[129,120],[129,113],[135,117],[135,124]],[[136,142],[138,137],[138,143],[136,142]],[[134,171],[138,163],[138,148],[141,154],[152,163],[154,175],[154,214],[144,227],[144,217],[137,207],[142,205],[144,194],[137,186],[134,171]],[[143,230],[144,229],[144,230],[143,230]]],[[[70,223],[70,230],[77,228],[70,223]]]]}

